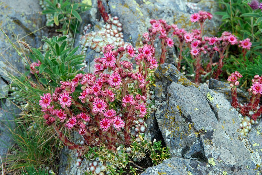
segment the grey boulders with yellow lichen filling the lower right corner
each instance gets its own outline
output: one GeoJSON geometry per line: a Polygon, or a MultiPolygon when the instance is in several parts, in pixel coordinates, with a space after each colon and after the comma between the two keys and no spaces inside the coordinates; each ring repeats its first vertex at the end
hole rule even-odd
{"type": "Polygon", "coordinates": [[[160,65],[156,76],[164,77],[167,95],[166,100],[161,96],[155,117],[173,158],[143,175],[261,174],[260,125],[242,140],[238,112],[224,94],[204,86],[183,86],[177,77],[186,79],[170,64],[160,65]]]}

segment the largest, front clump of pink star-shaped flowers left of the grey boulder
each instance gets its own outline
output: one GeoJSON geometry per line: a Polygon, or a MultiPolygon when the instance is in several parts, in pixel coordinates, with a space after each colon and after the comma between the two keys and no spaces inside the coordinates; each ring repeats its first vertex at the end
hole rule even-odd
{"type": "Polygon", "coordinates": [[[61,86],[52,95],[46,93],[40,97],[39,105],[47,125],[54,127],[59,139],[69,149],[84,151],[88,147],[70,142],[59,131],[62,126],[77,131],[89,146],[103,143],[109,149],[116,149],[116,144],[130,144],[130,127],[147,114],[148,69],[158,66],[158,61],[153,57],[154,47],[145,44],[138,48],[138,52],[135,54],[131,45],[115,50],[114,46],[108,44],[103,47],[104,57],[95,58],[94,74],[77,74],[70,81],[61,81],[61,86]],[[131,59],[135,60],[138,69],[134,69],[131,59]],[[107,74],[105,70],[112,73],[107,74]],[[129,86],[137,87],[141,94],[130,94],[129,86]],[[76,89],[81,89],[80,94],[76,89]],[[121,92],[120,98],[116,92],[121,92]],[[121,100],[121,110],[118,112],[112,108],[116,99],[121,100]],[[118,132],[122,133],[121,137],[118,132]]]}

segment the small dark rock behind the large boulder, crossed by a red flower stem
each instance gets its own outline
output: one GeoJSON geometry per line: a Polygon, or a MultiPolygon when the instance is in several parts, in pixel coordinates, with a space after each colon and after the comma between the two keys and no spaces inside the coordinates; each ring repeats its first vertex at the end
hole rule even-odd
{"type": "MultiPolygon", "coordinates": [[[[215,92],[219,92],[225,95],[226,99],[228,101],[231,101],[231,87],[229,86],[228,83],[218,81],[215,79],[210,79],[209,80],[209,89],[215,90],[215,92]]],[[[237,88],[237,97],[239,103],[248,103],[249,98],[248,96],[239,88],[237,88]]]]}

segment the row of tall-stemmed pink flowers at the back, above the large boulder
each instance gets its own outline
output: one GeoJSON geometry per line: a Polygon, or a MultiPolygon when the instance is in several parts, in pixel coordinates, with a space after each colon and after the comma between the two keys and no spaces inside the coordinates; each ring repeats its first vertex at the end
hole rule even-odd
{"type": "Polygon", "coordinates": [[[151,27],[148,30],[149,32],[143,34],[143,37],[145,38],[143,43],[153,46],[155,38],[158,35],[158,38],[161,40],[162,44],[160,64],[163,64],[166,59],[166,47],[174,46],[173,37],[176,36],[179,42],[177,69],[179,71],[181,69],[182,51],[185,45],[190,48],[190,54],[192,55],[192,58],[196,60],[195,83],[199,83],[200,74],[205,75],[211,72],[212,66],[217,66],[217,70],[211,76],[213,76],[215,79],[218,79],[222,73],[223,58],[225,57],[226,49],[230,45],[239,44],[238,46],[243,49],[243,55],[245,56],[247,50],[249,50],[252,46],[252,43],[250,42],[249,38],[238,42],[237,37],[227,31],[223,32],[221,37],[203,37],[204,22],[210,19],[212,19],[212,14],[209,12],[199,11],[198,13],[192,14],[190,21],[198,22],[200,26],[199,30],[193,29],[192,32],[188,32],[183,28],[179,29],[175,24],[168,25],[167,22],[162,19],[152,19],[150,20],[151,27]],[[168,37],[169,34],[171,34],[171,37],[168,37]],[[216,52],[219,54],[219,61],[217,63],[213,63],[213,56],[216,52]],[[209,56],[209,63],[206,67],[206,70],[204,70],[201,66],[202,54],[208,54],[209,56]]]}

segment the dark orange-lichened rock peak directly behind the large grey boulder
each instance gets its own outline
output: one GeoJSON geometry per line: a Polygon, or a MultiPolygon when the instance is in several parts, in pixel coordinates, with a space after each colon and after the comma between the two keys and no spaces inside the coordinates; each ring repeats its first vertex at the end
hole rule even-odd
{"type": "Polygon", "coordinates": [[[179,72],[172,64],[164,63],[159,65],[155,71],[155,75],[155,100],[158,100],[159,102],[166,100],[166,89],[172,82],[182,84],[183,86],[196,86],[185,76],[183,76],[183,74],[181,74],[181,72],[179,72]]]}

